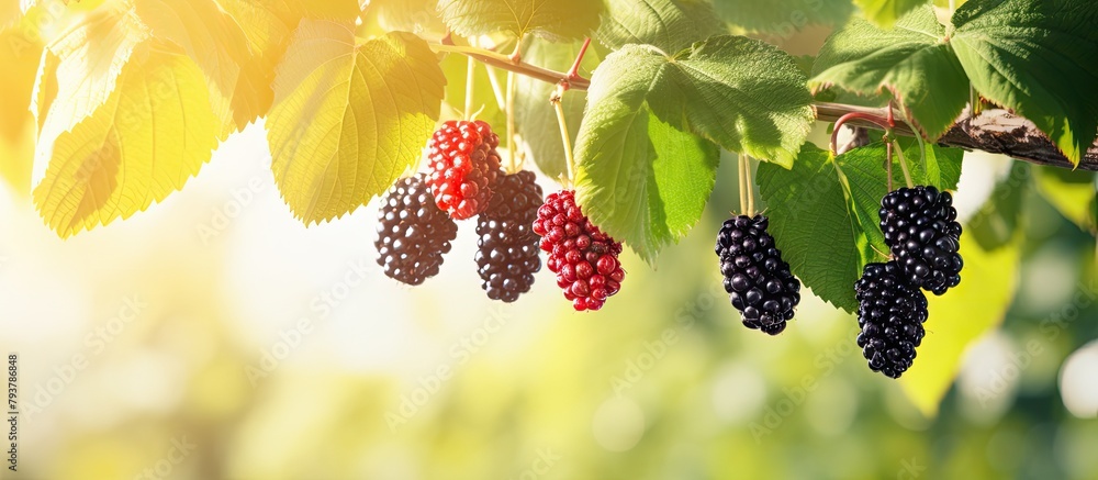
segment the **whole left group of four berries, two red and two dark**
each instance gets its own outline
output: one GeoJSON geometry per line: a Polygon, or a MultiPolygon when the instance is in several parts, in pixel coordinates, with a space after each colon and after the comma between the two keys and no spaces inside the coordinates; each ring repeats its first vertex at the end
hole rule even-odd
{"type": "Polygon", "coordinates": [[[498,135],[483,121],[448,121],[427,144],[429,174],[396,182],[379,211],[378,265],[386,276],[419,284],[438,274],[457,237],[456,220],[477,216],[474,257],[482,288],[514,302],[547,265],[575,310],[598,310],[617,293],[625,271],[621,244],[587,220],[564,191],[542,202],[530,171],[500,169],[498,135]]]}

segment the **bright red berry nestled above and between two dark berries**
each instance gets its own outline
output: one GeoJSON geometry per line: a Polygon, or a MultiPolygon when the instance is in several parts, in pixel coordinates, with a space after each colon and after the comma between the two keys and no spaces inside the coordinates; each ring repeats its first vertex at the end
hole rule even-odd
{"type": "Polygon", "coordinates": [[[500,175],[500,136],[483,121],[450,120],[427,143],[430,193],[453,220],[469,219],[488,208],[500,175]]]}

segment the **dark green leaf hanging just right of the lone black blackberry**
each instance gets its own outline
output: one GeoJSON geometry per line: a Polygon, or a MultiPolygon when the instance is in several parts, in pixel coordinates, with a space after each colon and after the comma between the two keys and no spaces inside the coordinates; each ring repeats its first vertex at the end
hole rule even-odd
{"type": "Polygon", "coordinates": [[[858,310],[860,253],[829,154],[805,144],[793,168],[760,164],[757,179],[771,234],[793,274],[819,298],[848,312],[858,310]]]}

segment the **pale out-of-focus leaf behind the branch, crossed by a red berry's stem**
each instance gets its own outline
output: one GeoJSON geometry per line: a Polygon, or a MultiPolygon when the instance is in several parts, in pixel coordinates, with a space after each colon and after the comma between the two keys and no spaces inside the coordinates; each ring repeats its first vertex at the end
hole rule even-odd
{"type": "MultiPolygon", "coordinates": [[[[553,70],[567,70],[579,53],[578,42],[563,45],[530,42],[523,53],[523,60],[553,70]]],[[[581,72],[584,69],[589,71],[593,69],[598,65],[598,54],[594,48],[587,49],[583,56],[581,72]]],[[[515,129],[522,138],[527,159],[533,159],[538,169],[550,178],[559,178],[568,172],[564,166],[564,146],[560,138],[560,126],[557,124],[557,112],[549,103],[549,96],[556,88],[556,85],[525,75],[515,77],[515,129]]],[[[571,138],[575,138],[580,132],[586,103],[587,94],[582,90],[569,90],[561,99],[571,138]]]]}

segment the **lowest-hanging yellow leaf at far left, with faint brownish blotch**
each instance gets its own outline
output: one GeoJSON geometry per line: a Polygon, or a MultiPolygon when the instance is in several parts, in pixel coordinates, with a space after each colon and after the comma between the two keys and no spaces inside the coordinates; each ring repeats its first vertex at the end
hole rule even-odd
{"type": "Polygon", "coordinates": [[[178,47],[146,41],[104,103],[54,143],[34,189],[61,237],[145,210],[210,159],[220,122],[202,70],[178,47]]]}

